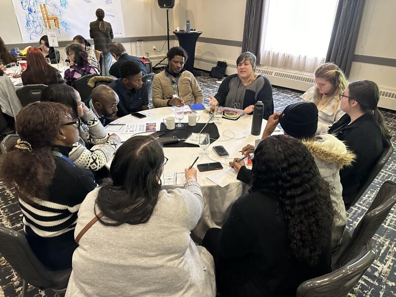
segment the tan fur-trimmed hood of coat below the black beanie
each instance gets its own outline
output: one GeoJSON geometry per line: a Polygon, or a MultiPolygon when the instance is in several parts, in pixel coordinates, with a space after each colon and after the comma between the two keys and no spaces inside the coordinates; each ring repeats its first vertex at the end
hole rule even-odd
{"type": "Polygon", "coordinates": [[[317,136],[316,140],[303,140],[314,158],[327,163],[335,163],[341,169],[350,166],[356,155],[349,151],[345,144],[335,136],[327,134],[317,136]]]}

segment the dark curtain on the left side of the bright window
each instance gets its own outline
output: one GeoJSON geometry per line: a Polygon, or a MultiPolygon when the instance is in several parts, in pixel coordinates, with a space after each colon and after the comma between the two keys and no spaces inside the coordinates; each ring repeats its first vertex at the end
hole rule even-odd
{"type": "Polygon", "coordinates": [[[242,52],[258,54],[260,46],[262,6],[265,0],[246,0],[242,52]]]}

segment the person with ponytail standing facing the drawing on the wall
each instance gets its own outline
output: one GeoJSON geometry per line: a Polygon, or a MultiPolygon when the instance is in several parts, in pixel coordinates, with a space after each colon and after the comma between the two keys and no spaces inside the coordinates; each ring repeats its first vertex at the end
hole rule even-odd
{"type": "Polygon", "coordinates": [[[93,39],[95,50],[103,52],[106,65],[104,75],[109,75],[111,62],[113,59],[111,53],[109,52],[109,45],[114,37],[113,29],[111,28],[111,24],[109,22],[105,22],[103,20],[105,17],[105,12],[103,9],[96,9],[95,15],[97,20],[89,23],[89,36],[93,39]]]}

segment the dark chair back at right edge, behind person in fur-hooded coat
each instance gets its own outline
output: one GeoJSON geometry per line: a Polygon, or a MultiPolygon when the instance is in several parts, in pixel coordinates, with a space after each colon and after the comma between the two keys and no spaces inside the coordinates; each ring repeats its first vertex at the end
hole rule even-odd
{"type": "Polygon", "coordinates": [[[344,233],[340,249],[332,255],[332,269],[338,269],[356,256],[360,246],[372,239],[395,203],[396,183],[388,180],[382,184],[352,237],[347,231],[344,233]]]}

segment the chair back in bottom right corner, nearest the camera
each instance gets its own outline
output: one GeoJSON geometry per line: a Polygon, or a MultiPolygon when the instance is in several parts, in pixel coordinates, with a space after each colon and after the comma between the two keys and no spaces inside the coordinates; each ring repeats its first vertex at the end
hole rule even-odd
{"type": "Polygon", "coordinates": [[[366,242],[360,246],[356,257],[345,266],[300,284],[296,297],[346,297],[375,258],[374,244],[366,242]]]}

